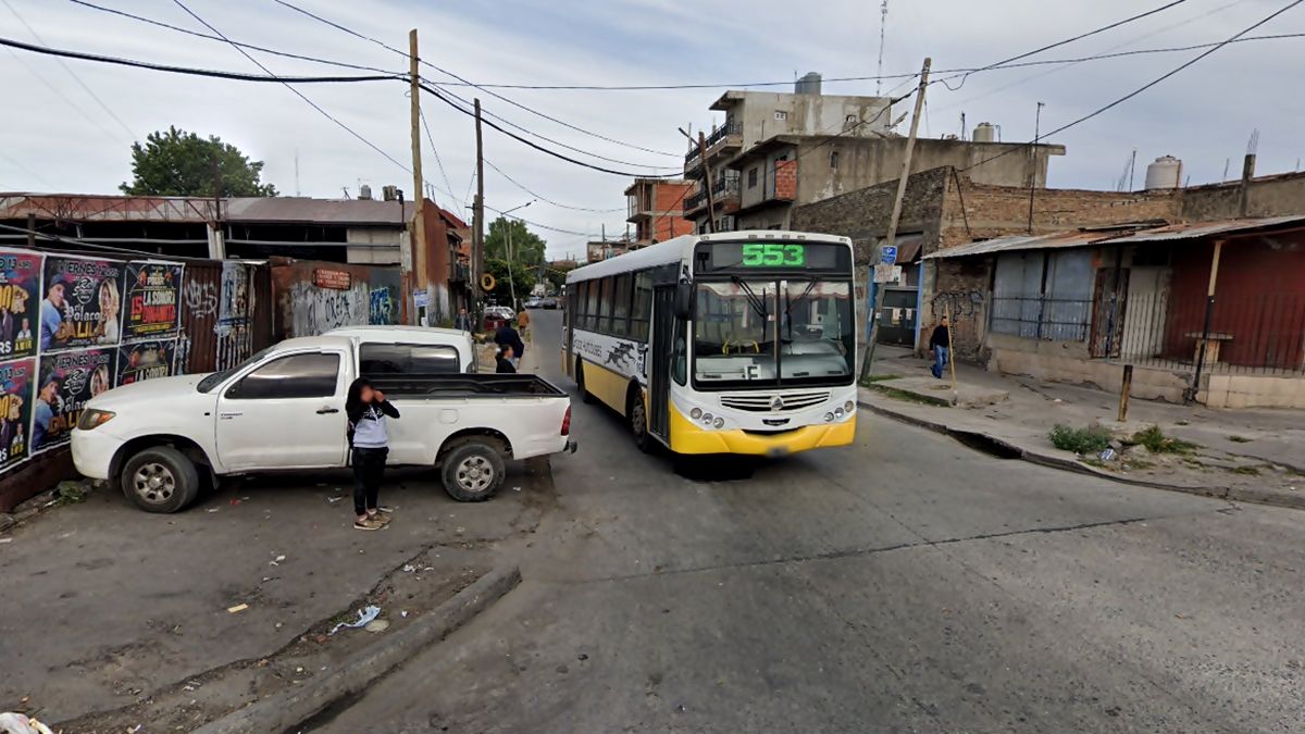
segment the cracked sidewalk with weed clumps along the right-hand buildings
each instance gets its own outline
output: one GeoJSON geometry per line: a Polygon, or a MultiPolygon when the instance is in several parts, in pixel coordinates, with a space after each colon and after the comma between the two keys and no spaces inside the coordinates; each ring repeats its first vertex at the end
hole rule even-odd
{"type": "Polygon", "coordinates": [[[878,346],[863,406],[1007,457],[1088,471],[1150,487],[1242,502],[1305,508],[1305,414],[1291,410],[1211,410],[1134,398],[1128,423],[1116,423],[1118,396],[1032,377],[1002,376],[957,364],[929,374],[929,360],[878,346]],[[1100,426],[1116,456],[1079,456],[1052,445],[1057,424],[1100,426]],[[1131,438],[1158,426],[1165,438],[1195,444],[1152,453],[1131,438]]]}

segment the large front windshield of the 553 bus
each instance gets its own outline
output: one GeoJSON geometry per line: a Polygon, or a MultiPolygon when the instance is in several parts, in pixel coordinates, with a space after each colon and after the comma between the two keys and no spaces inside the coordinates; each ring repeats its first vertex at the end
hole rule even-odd
{"type": "Polygon", "coordinates": [[[846,384],[852,377],[852,286],[846,281],[699,282],[693,324],[699,385],[846,384]]]}

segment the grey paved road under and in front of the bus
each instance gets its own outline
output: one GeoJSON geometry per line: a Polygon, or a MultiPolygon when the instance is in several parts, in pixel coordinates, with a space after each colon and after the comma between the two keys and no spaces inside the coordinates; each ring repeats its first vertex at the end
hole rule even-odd
{"type": "Polygon", "coordinates": [[[322,730],[1305,730],[1305,515],[860,421],[702,481],[576,401],[526,581],[322,730]]]}

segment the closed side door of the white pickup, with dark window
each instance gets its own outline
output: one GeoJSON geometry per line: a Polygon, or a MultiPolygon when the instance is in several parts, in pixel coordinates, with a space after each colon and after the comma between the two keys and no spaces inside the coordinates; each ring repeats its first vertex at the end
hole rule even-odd
{"type": "Polygon", "coordinates": [[[345,366],[335,350],[278,354],[226,387],[217,445],[230,470],[343,466],[345,366]]]}

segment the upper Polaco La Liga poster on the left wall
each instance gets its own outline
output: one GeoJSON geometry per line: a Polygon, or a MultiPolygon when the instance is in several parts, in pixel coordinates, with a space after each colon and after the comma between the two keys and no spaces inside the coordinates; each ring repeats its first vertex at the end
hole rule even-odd
{"type": "Polygon", "coordinates": [[[40,351],[123,340],[123,264],[47,256],[40,283],[40,351]]]}

